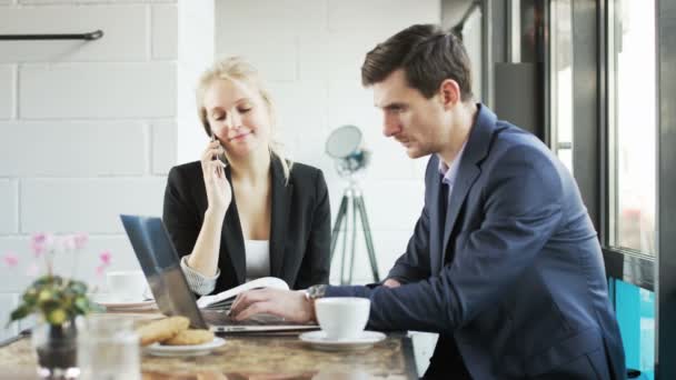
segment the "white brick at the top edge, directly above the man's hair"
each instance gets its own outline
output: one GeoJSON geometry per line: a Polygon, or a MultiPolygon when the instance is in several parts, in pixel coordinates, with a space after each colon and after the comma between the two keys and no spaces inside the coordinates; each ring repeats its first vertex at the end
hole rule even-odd
{"type": "Polygon", "coordinates": [[[439,23],[439,0],[328,0],[330,31],[381,30],[394,34],[414,23],[439,23]]]}

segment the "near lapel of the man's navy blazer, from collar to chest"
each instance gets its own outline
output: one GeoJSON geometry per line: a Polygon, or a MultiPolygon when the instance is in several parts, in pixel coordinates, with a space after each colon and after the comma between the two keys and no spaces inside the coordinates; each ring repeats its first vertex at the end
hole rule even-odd
{"type": "Polygon", "coordinates": [[[441,266],[446,262],[450,234],[454,230],[460,208],[463,207],[463,203],[465,203],[469,189],[481,173],[479,164],[488,154],[493,133],[496,130],[496,121],[497,117],[495,113],[487,107],[478,104],[477,119],[469,132],[465,151],[460,158],[461,161],[460,167],[458,168],[458,177],[456,178],[446,209],[441,266]]]}

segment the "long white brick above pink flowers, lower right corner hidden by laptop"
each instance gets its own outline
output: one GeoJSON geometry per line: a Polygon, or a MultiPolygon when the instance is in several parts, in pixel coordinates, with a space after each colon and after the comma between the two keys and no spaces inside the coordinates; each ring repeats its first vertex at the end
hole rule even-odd
{"type": "Polygon", "coordinates": [[[30,179],[21,183],[21,231],[119,233],[120,213],[160,216],[165,178],[30,179]]]}

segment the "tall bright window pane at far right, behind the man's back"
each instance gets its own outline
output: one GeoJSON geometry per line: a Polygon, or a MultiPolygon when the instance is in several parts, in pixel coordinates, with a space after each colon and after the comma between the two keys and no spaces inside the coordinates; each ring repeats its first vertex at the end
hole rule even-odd
{"type": "Polygon", "coordinates": [[[655,254],[655,0],[608,6],[608,243],[655,254]]]}

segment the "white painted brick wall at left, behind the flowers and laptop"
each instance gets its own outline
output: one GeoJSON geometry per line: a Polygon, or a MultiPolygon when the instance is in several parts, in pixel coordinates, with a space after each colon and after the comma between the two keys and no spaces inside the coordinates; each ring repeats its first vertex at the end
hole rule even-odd
{"type": "MultiPolygon", "coordinates": [[[[90,234],[57,271],[102,288],[99,253],[138,269],[119,213],[161,214],[176,162],[178,6],[141,0],[0,0],[0,33],[96,41],[0,43],[0,324],[32,280],[34,232],[90,234]],[[77,258],[77,259],[76,259],[77,258]]],[[[105,289],[103,289],[105,290],[105,289]]],[[[0,337],[16,332],[0,331],[0,337]]]]}

